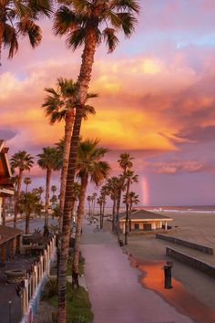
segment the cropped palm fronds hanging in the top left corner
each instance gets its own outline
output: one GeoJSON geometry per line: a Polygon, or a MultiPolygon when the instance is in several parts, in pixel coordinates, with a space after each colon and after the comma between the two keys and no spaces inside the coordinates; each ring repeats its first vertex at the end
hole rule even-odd
{"type": "Polygon", "coordinates": [[[42,31],[36,25],[38,16],[50,16],[51,3],[48,0],[7,0],[0,2],[0,65],[3,47],[8,47],[8,58],[18,50],[18,37],[28,36],[31,46],[38,46],[42,31]]]}

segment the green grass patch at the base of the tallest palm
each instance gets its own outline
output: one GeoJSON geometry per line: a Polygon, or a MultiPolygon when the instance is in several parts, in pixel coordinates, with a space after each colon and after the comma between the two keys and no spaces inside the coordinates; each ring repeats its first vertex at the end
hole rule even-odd
{"type": "MultiPolygon", "coordinates": [[[[44,300],[57,308],[57,295],[45,297],[44,300]]],[[[74,289],[72,284],[67,282],[67,323],[88,323],[92,321],[93,313],[87,290],[84,287],[74,289]]]]}

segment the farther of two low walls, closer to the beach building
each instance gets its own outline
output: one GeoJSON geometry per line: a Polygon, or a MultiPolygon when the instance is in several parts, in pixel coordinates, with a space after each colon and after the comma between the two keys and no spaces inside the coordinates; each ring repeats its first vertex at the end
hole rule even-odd
{"type": "Polygon", "coordinates": [[[187,246],[190,249],[199,250],[205,254],[213,255],[213,249],[206,245],[194,244],[187,240],[182,240],[182,239],[176,238],[175,236],[168,236],[165,234],[156,234],[156,238],[169,241],[170,243],[173,243],[173,244],[187,246]]]}

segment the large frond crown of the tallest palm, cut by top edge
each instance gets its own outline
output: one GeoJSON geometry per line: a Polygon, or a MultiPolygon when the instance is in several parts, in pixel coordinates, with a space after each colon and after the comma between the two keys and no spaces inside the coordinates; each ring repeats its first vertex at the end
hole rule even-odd
{"type": "Polygon", "coordinates": [[[129,37],[135,29],[139,12],[137,0],[72,0],[63,1],[56,11],[54,30],[67,36],[67,47],[77,49],[85,42],[87,28],[93,28],[97,45],[104,41],[108,52],[118,45],[117,32],[129,37]]]}

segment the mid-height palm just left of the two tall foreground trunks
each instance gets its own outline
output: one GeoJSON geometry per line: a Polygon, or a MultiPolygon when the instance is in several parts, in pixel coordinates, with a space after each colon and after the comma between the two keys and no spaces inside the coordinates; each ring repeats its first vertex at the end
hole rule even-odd
{"type": "Polygon", "coordinates": [[[49,191],[51,175],[53,171],[59,170],[58,151],[56,148],[46,147],[43,148],[43,153],[37,155],[39,157],[37,163],[43,169],[46,170],[46,203],[45,203],[45,225],[44,235],[48,234],[48,206],[49,206],[49,191]]]}

